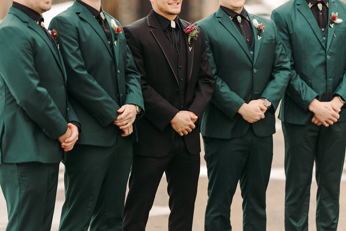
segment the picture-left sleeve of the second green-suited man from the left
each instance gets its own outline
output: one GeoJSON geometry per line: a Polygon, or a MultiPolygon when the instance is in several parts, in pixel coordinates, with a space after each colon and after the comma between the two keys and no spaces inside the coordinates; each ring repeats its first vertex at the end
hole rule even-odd
{"type": "MultiPolygon", "coordinates": [[[[111,124],[119,115],[119,105],[86,71],[79,48],[79,37],[70,19],[57,16],[49,28],[58,32],[58,42],[67,72],[67,89],[91,114],[103,121],[102,126],[111,124]],[[83,87],[79,87],[83,83],[83,87]]],[[[90,57],[92,58],[92,57],[90,57]]]]}

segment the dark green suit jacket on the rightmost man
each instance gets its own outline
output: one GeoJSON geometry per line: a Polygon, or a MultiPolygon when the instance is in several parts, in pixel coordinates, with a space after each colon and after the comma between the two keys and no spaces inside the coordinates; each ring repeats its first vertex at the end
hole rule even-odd
{"type": "MultiPolygon", "coordinates": [[[[279,118],[288,123],[311,123],[311,101],[330,101],[337,94],[346,98],[346,3],[329,0],[328,31],[322,34],[305,0],[291,0],[272,12],[291,61],[290,82],[282,99],[279,118]],[[344,21],[330,24],[338,12],[344,21]]],[[[341,110],[338,121],[346,120],[341,110]]]]}

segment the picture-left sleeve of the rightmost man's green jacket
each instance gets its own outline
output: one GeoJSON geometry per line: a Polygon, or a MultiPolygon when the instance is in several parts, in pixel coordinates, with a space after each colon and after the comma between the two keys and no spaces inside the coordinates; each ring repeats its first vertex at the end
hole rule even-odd
{"type": "Polygon", "coordinates": [[[319,97],[319,95],[304,82],[300,76],[295,72],[294,60],[292,53],[292,45],[290,34],[288,31],[287,24],[281,12],[277,9],[273,10],[271,18],[274,20],[279,34],[283,41],[283,46],[290,59],[291,63],[291,74],[286,93],[297,103],[301,108],[308,111],[308,107],[313,99],[319,97]]]}

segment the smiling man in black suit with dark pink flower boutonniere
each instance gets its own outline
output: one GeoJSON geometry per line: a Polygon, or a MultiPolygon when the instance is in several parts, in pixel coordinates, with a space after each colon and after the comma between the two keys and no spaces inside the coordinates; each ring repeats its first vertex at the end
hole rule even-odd
{"type": "Polygon", "coordinates": [[[170,195],[169,229],[191,230],[200,169],[199,120],[214,79],[202,33],[193,27],[187,34],[190,24],[177,17],[182,0],[150,1],[150,14],[124,27],[146,114],[137,124],[123,230],[145,230],[163,172],[170,195]]]}

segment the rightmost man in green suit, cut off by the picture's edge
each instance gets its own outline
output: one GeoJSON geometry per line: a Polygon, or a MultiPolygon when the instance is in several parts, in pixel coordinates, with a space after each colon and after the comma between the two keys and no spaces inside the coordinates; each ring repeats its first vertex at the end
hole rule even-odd
{"type": "Polygon", "coordinates": [[[291,61],[279,115],[285,138],[285,229],[308,230],[315,161],[317,230],[336,230],[346,147],[346,3],[292,0],[275,9],[272,19],[291,61]]]}

